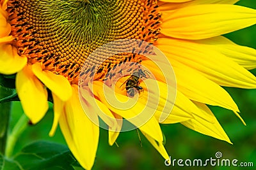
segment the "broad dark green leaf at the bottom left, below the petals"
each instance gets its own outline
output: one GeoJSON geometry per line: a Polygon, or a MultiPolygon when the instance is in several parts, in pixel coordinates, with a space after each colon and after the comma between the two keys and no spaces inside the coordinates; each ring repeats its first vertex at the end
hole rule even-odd
{"type": "MultiPolygon", "coordinates": [[[[70,169],[79,167],[67,146],[48,141],[36,141],[25,146],[13,162],[19,162],[22,169],[70,169]]],[[[1,166],[1,160],[0,160],[1,166]]]]}

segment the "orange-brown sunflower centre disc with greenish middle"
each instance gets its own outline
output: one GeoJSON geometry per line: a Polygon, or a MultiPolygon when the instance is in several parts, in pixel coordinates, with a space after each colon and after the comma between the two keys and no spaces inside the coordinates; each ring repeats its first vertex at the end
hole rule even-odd
{"type": "MultiPolygon", "coordinates": [[[[10,0],[7,11],[18,54],[28,57],[28,64],[40,62],[42,69],[77,83],[84,63],[84,74],[95,73],[95,78],[103,80],[117,64],[140,62],[140,53],[118,53],[105,59],[105,50],[88,56],[118,39],[153,44],[161,24],[157,7],[156,0],[10,0]],[[95,70],[97,63],[100,66],[95,70]]],[[[117,46],[132,51],[131,45],[117,46]]]]}

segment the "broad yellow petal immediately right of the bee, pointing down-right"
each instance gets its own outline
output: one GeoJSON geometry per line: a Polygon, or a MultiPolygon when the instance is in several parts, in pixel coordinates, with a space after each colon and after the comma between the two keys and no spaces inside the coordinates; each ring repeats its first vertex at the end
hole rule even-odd
{"type": "MultiPolygon", "coordinates": [[[[159,75],[158,73],[154,74],[155,76],[159,75]]],[[[141,83],[140,85],[143,89],[148,90],[148,92],[152,94],[152,96],[148,96],[147,99],[145,99],[147,100],[149,107],[154,106],[154,103],[159,101],[157,108],[152,107],[152,109],[156,110],[154,117],[156,117],[157,121],[161,124],[175,124],[177,122],[189,120],[192,117],[191,113],[197,110],[194,104],[175,87],[166,85],[161,81],[156,81],[159,89],[159,94],[157,94],[156,85],[153,83],[154,81],[156,80],[148,78],[145,80],[145,83],[141,83]],[[145,84],[147,84],[147,87],[145,84]],[[159,98],[157,98],[158,95],[159,98]]]]}

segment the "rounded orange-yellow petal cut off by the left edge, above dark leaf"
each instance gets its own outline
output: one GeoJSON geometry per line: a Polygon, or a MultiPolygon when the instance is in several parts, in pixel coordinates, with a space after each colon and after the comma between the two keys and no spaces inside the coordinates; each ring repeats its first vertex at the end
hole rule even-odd
{"type": "Polygon", "coordinates": [[[0,43],[0,73],[17,73],[27,64],[27,60],[25,56],[20,57],[12,45],[0,43]]]}

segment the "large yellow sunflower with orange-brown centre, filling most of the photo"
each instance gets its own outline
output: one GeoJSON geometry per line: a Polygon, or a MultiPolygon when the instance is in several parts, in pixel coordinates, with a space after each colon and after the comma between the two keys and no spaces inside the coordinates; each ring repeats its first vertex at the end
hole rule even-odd
{"type": "Polygon", "coordinates": [[[255,50],[221,36],[256,23],[256,10],[236,2],[1,0],[0,73],[16,74],[17,94],[33,124],[44,117],[52,96],[49,135],[59,124],[85,169],[95,160],[99,118],[108,125],[109,145],[129,120],[164,159],[169,157],[159,123],[180,122],[231,143],[206,104],[241,118],[221,86],[256,87],[248,71],[256,67],[255,50]],[[111,42],[111,48],[97,50],[111,42]],[[106,55],[113,46],[119,53],[106,55]],[[154,47],[166,55],[165,63],[154,47]],[[175,76],[163,71],[169,62],[175,76]],[[133,105],[124,106],[129,99],[133,105]],[[141,112],[146,114],[138,117],[141,112]]]}

